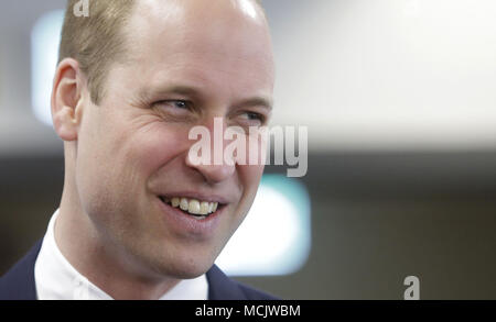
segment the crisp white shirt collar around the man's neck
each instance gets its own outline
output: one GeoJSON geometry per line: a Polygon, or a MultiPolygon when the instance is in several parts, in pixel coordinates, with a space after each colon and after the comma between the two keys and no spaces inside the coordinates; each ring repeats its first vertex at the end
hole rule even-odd
{"type": "MultiPolygon", "coordinates": [[[[34,265],[39,300],[111,300],[112,298],[80,275],[62,255],[55,242],[54,226],[58,210],[50,220],[40,254],[34,265]]],[[[160,300],[206,300],[208,282],[205,275],[184,279],[160,300]]]]}

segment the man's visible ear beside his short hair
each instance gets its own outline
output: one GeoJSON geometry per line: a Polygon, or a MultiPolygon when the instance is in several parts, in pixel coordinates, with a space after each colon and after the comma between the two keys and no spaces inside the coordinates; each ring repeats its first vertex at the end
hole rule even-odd
{"type": "Polygon", "coordinates": [[[63,59],[55,71],[52,90],[52,120],[55,132],[64,141],[76,141],[82,121],[83,86],[79,64],[63,59]]]}

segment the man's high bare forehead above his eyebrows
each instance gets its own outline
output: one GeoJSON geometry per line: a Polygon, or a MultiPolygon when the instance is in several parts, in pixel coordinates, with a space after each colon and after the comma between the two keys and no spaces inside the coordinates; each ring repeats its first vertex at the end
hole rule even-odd
{"type": "Polygon", "coordinates": [[[149,79],[182,74],[207,80],[220,75],[272,86],[267,22],[250,0],[142,0],[126,34],[130,62],[149,79]]]}

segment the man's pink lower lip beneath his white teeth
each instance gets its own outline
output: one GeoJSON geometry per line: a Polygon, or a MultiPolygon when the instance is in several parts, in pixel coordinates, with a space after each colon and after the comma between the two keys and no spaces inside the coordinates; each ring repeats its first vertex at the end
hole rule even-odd
{"type": "Polygon", "coordinates": [[[159,202],[160,209],[164,213],[164,218],[169,226],[177,233],[201,237],[208,237],[214,234],[218,225],[219,218],[225,209],[225,207],[222,207],[207,218],[198,220],[193,215],[184,213],[179,208],[164,203],[160,198],[157,198],[157,201],[159,202]]]}

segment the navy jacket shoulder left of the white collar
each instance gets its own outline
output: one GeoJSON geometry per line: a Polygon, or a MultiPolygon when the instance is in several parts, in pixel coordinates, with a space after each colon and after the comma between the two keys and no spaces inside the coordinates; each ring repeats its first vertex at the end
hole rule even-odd
{"type": "Polygon", "coordinates": [[[37,241],[31,251],[0,278],[0,300],[35,300],[34,264],[42,241],[37,241]]]}

